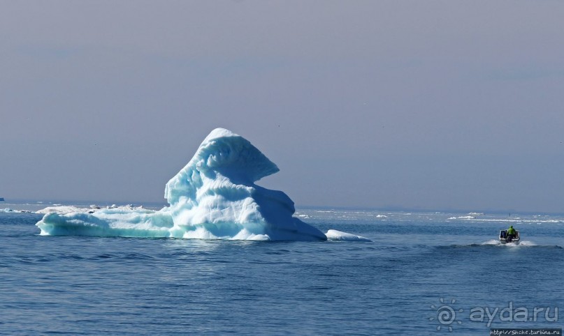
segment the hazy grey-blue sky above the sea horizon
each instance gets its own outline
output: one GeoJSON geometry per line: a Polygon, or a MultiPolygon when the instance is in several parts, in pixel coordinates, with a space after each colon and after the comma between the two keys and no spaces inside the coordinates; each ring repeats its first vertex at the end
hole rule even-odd
{"type": "Polygon", "coordinates": [[[0,197],[164,201],[224,127],[298,207],[564,212],[564,1],[0,7],[0,197]]]}

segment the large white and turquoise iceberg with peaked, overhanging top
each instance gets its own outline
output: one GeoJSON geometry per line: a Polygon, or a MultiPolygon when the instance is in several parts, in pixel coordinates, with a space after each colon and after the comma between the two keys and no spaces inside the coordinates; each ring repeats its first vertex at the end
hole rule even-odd
{"type": "Polygon", "coordinates": [[[217,128],[203,140],[188,164],[166,183],[164,196],[168,207],[160,211],[51,211],[36,225],[42,235],[236,240],[362,238],[344,233],[326,236],[293,217],[294,202],[287,194],[254,184],[278,170],[247,139],[217,128]]]}

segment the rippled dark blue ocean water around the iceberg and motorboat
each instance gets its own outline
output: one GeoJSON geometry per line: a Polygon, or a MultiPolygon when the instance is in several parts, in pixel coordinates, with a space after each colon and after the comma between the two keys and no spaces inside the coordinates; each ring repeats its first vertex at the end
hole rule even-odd
{"type": "Polygon", "coordinates": [[[296,216],[373,241],[38,236],[41,215],[0,213],[0,334],[489,335],[564,325],[564,215],[296,216]],[[496,243],[509,224],[520,245],[496,243]],[[493,317],[480,320],[480,309],[493,317]]]}

